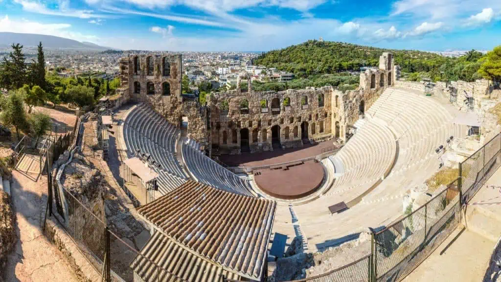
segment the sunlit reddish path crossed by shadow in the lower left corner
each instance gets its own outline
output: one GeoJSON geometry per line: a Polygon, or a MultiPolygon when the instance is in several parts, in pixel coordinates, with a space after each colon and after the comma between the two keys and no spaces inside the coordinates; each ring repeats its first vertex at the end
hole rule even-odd
{"type": "Polygon", "coordinates": [[[13,181],[11,192],[18,242],[2,273],[4,279],[9,282],[78,281],[67,261],[40,228],[47,198],[47,177],[41,176],[34,182],[13,171],[13,181]]]}

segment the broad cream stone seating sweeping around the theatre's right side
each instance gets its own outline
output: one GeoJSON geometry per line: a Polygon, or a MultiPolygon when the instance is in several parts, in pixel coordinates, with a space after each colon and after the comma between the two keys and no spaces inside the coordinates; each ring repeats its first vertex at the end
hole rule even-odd
{"type": "Polygon", "coordinates": [[[438,170],[434,150],[452,135],[453,115],[444,105],[424,93],[385,90],[367,110],[367,123],[330,157],[341,176],[329,192],[294,207],[303,232],[312,238],[310,246],[339,243],[337,239],[388,224],[402,214],[403,195],[438,170]],[[388,172],[374,190],[360,197],[388,172]],[[348,210],[329,213],[328,206],[354,199],[348,210]]]}

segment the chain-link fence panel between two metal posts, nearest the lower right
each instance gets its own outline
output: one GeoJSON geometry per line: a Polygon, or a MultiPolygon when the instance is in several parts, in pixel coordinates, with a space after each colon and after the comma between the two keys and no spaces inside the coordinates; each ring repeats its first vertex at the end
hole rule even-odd
{"type": "Polygon", "coordinates": [[[403,279],[452,233],[460,218],[455,187],[457,180],[425,205],[374,234],[377,281],[403,279]]]}

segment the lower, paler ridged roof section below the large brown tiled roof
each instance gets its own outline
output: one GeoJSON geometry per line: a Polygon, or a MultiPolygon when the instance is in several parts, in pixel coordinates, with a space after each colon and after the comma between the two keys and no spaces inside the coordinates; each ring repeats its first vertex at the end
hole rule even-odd
{"type": "Polygon", "coordinates": [[[191,253],[159,231],[153,233],[130,266],[145,282],[214,282],[220,280],[220,274],[228,279],[240,280],[237,274],[191,253]]]}

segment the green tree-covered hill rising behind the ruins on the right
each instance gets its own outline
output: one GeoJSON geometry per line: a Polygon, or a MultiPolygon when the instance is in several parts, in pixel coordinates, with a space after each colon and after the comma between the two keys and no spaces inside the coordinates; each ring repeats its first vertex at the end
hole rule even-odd
{"type": "Polygon", "coordinates": [[[434,53],[415,50],[390,50],[342,42],[310,40],[262,54],[255,65],[275,67],[292,72],[299,78],[311,75],[359,71],[360,67],[377,67],[379,56],[392,52],[394,62],[400,65],[403,77],[409,80],[430,78],[441,80],[473,81],[480,78],[478,69],[480,52],[471,50],[460,58],[447,58],[434,53]]]}

